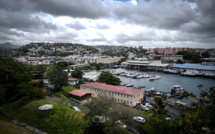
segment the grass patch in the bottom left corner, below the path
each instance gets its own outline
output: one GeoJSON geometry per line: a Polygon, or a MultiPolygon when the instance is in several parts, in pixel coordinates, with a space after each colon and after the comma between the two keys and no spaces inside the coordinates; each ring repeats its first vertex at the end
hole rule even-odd
{"type": "Polygon", "coordinates": [[[33,134],[23,127],[19,127],[8,123],[7,121],[0,120],[0,134],[33,134]]]}

